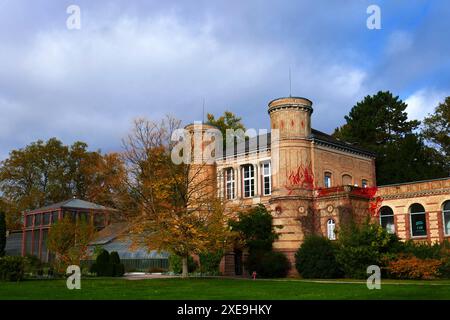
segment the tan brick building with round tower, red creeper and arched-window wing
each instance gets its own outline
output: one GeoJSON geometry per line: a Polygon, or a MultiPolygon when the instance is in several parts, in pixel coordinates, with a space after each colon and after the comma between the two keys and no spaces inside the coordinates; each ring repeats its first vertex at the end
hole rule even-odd
{"type": "MultiPolygon", "coordinates": [[[[335,229],[350,219],[381,214],[381,225],[402,239],[450,237],[450,178],[377,187],[375,155],[313,129],[310,100],[275,99],[267,111],[271,133],[226,148],[215,161],[204,163],[204,175],[230,207],[263,203],[268,208],[274,224],[283,227],[274,249],[292,265],[306,235],[335,240],[335,229]]],[[[186,127],[191,136],[203,138],[202,150],[212,141],[207,132],[214,129],[186,127]]],[[[239,250],[229,252],[222,272],[242,274],[242,259],[239,250]]]]}

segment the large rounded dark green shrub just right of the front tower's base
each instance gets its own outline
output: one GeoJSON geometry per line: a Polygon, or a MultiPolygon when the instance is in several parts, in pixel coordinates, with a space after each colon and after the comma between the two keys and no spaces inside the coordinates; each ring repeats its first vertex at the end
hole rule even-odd
{"type": "Polygon", "coordinates": [[[321,236],[309,236],[295,254],[295,267],[303,278],[330,279],[342,275],[333,243],[321,236]]]}

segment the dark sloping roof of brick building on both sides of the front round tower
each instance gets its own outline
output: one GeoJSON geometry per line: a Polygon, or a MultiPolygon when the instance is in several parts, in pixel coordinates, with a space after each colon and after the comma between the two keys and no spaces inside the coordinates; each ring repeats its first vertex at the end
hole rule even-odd
{"type": "MultiPolygon", "coordinates": [[[[361,148],[359,146],[355,146],[354,144],[350,144],[345,141],[338,140],[333,136],[326,134],[322,131],[311,129],[311,135],[309,138],[319,144],[323,144],[329,147],[334,147],[338,149],[344,149],[345,151],[359,153],[369,157],[375,157],[375,153],[361,148]]],[[[224,157],[226,156],[236,156],[240,154],[246,154],[256,151],[265,151],[266,149],[270,149],[271,147],[271,134],[270,132],[267,134],[262,134],[250,139],[247,139],[245,142],[241,142],[234,146],[227,147],[224,150],[224,157]]]]}

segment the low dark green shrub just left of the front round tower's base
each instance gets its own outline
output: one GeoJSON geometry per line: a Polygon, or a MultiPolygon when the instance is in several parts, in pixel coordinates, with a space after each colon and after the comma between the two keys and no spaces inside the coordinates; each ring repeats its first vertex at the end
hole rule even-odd
{"type": "Polygon", "coordinates": [[[284,278],[289,272],[290,263],[286,255],[281,252],[260,251],[248,256],[246,267],[250,274],[256,271],[258,277],[284,278]]]}

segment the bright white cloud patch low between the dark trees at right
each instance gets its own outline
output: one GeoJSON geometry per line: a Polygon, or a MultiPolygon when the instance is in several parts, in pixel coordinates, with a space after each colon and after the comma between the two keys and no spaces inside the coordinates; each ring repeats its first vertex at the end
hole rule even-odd
{"type": "Polygon", "coordinates": [[[450,92],[442,92],[434,89],[420,89],[405,99],[408,107],[408,119],[422,120],[428,114],[432,114],[437,105],[449,96],[450,92]]]}

